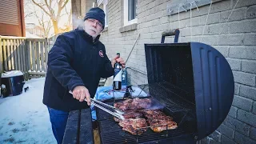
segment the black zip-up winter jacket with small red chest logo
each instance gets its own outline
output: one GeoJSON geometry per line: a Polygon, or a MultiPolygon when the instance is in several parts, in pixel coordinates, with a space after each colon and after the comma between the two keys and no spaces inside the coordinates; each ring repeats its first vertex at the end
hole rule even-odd
{"type": "Polygon", "coordinates": [[[91,98],[100,78],[114,74],[105,46],[84,30],[61,34],[48,54],[48,69],[42,102],[56,110],[70,111],[88,107],[74,99],[69,90],[86,86],[91,98]]]}

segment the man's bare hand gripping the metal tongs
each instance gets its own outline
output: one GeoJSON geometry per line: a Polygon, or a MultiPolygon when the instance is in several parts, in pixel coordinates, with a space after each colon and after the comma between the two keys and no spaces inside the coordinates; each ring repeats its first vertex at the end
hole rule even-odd
{"type": "Polygon", "coordinates": [[[73,98],[83,102],[86,98],[87,105],[90,106],[90,93],[85,86],[75,86],[73,90],[73,98]]]}

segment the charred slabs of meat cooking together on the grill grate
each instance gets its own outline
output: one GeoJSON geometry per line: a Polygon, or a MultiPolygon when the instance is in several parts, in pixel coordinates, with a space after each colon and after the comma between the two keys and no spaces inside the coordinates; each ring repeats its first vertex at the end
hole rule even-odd
{"type": "Polygon", "coordinates": [[[146,110],[151,106],[151,103],[150,98],[134,98],[114,103],[114,107],[126,112],[123,114],[125,120],[114,117],[114,121],[119,122],[122,130],[138,135],[146,131],[148,123],[151,130],[158,133],[178,127],[177,123],[172,121],[173,118],[161,110],[146,110]]]}

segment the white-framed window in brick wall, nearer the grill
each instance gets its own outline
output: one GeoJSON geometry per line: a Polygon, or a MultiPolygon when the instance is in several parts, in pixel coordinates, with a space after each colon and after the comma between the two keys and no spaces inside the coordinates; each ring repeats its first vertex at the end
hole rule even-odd
{"type": "Polygon", "coordinates": [[[123,0],[124,1],[124,25],[137,23],[137,1],[138,0],[123,0]]]}

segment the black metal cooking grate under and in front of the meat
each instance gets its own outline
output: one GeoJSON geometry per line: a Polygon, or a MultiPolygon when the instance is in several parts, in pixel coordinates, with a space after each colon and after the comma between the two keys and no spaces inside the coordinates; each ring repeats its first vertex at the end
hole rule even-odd
{"type": "MultiPolygon", "coordinates": [[[[106,102],[113,106],[113,102],[106,102]]],[[[148,128],[142,135],[133,135],[127,131],[122,130],[122,127],[118,125],[118,122],[114,121],[112,115],[107,114],[105,111],[96,108],[98,126],[100,131],[100,137],[103,144],[113,143],[143,143],[158,141],[165,138],[174,138],[186,134],[183,130],[183,126],[179,126],[174,130],[164,130],[161,133],[155,133],[153,130],[148,128]]],[[[174,122],[175,121],[174,118],[174,122]]]]}

